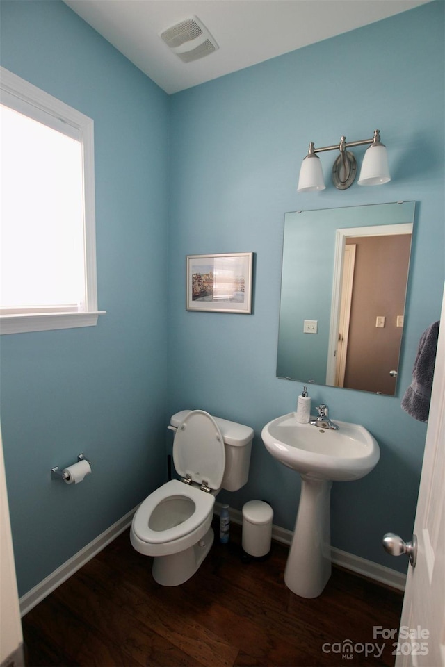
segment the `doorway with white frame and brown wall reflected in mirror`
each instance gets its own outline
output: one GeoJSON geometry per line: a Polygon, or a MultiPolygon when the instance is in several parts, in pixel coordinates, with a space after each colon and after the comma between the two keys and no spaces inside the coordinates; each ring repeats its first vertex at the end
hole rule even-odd
{"type": "Polygon", "coordinates": [[[337,229],[327,385],[394,396],[411,236],[411,223],[337,229]]]}

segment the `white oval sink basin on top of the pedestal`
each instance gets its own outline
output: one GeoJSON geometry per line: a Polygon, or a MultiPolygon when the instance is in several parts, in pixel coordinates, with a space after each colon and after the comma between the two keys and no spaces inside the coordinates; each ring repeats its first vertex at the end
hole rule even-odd
{"type": "Polygon", "coordinates": [[[358,424],[339,422],[338,431],[300,424],[296,413],[277,417],[264,427],[266,449],[284,466],[301,475],[350,481],[367,475],[378,463],[378,443],[358,424]]]}

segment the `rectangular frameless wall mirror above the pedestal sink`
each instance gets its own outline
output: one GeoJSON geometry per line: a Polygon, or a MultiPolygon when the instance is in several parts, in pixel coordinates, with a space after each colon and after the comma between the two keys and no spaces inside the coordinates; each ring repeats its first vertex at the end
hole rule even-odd
{"type": "Polygon", "coordinates": [[[277,377],[396,393],[414,208],[285,214],[277,377]]]}

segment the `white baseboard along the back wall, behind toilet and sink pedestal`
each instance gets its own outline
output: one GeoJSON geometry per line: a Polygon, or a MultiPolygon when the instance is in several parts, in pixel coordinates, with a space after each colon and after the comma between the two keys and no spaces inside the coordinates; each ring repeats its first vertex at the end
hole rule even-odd
{"type": "MultiPolygon", "coordinates": [[[[215,513],[220,513],[221,504],[215,503],[215,513]]],[[[243,513],[238,509],[229,509],[230,520],[237,525],[243,525],[243,513]]],[[[272,539],[282,544],[290,545],[292,541],[293,531],[280,526],[272,525],[272,539]]],[[[351,570],[359,575],[373,579],[375,582],[397,588],[398,591],[405,591],[406,575],[403,575],[397,570],[391,570],[373,561],[368,561],[354,554],[348,554],[346,551],[331,547],[332,563],[341,566],[346,570],[351,570]]]]}

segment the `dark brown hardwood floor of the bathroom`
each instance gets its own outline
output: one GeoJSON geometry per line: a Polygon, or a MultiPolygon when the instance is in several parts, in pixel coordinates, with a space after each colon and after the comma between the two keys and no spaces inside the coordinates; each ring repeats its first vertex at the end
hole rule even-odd
{"type": "Polygon", "coordinates": [[[27,665],[394,665],[373,626],[398,627],[401,593],[334,568],[319,598],[298,598],[284,585],[287,547],[243,563],[240,543],[232,525],[228,545],[215,541],[198,573],[168,588],[125,531],[24,616],[27,665]]]}

